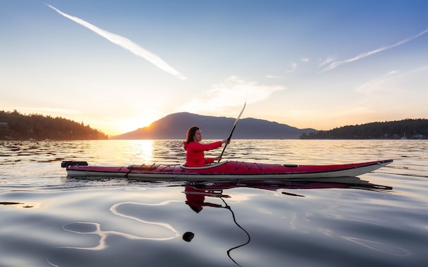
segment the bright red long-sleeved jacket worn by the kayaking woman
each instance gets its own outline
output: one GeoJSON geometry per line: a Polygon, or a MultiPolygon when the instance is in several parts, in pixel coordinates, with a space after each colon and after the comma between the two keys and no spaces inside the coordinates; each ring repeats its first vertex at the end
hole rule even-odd
{"type": "Polygon", "coordinates": [[[222,147],[222,141],[213,142],[211,144],[200,144],[198,142],[184,142],[186,153],[186,166],[188,167],[203,167],[205,164],[214,162],[212,157],[206,157],[204,151],[217,149],[222,147]]]}

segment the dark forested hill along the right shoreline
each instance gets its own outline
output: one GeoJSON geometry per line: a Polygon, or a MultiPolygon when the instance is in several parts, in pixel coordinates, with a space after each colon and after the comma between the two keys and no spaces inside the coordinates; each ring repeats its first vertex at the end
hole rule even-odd
{"type": "Polygon", "coordinates": [[[425,118],[394,120],[344,126],[330,131],[303,133],[300,139],[427,139],[428,120],[425,118]]]}

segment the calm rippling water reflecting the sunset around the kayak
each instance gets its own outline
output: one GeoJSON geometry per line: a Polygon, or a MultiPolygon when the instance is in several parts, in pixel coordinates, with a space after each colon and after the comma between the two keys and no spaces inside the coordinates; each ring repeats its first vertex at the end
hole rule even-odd
{"type": "Polygon", "coordinates": [[[394,159],[341,183],[252,185],[72,179],[60,168],[62,160],[183,162],[178,140],[0,142],[0,266],[427,266],[427,147],[232,140],[228,160],[394,159]],[[366,187],[373,184],[386,189],[366,187]]]}

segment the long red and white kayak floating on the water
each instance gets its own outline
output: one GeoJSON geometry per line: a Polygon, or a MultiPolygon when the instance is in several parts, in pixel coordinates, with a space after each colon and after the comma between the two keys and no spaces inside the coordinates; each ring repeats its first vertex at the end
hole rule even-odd
{"type": "Polygon", "coordinates": [[[356,177],[382,168],[392,160],[353,164],[297,165],[224,161],[203,167],[183,164],[142,164],[129,166],[92,166],[88,162],[62,162],[68,177],[126,177],[141,179],[298,179],[356,177]]]}

